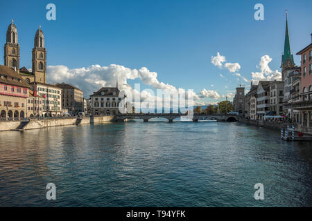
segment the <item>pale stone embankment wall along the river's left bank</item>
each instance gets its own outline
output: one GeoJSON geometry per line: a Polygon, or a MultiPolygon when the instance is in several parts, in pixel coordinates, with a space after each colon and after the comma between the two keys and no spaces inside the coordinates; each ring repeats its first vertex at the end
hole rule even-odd
{"type": "MultiPolygon", "coordinates": [[[[31,119],[31,121],[24,126],[24,130],[45,128],[50,126],[67,126],[76,123],[76,117],[69,118],[51,118],[51,119],[31,119]]],[[[114,122],[116,121],[114,116],[95,116],[95,117],[83,117],[80,124],[94,124],[101,122],[114,122]]],[[[21,122],[0,122],[0,131],[15,130],[21,122]]]]}

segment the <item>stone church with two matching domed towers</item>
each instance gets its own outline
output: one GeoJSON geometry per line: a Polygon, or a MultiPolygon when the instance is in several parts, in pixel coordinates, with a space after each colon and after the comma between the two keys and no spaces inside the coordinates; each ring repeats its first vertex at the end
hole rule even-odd
{"type": "Polygon", "coordinates": [[[19,68],[19,43],[17,28],[10,23],[6,32],[4,45],[4,65],[15,69],[28,83],[33,81],[46,84],[46,48],[44,48],[44,35],[42,30],[37,30],[32,53],[32,69],[29,72],[25,67],[19,68]]]}

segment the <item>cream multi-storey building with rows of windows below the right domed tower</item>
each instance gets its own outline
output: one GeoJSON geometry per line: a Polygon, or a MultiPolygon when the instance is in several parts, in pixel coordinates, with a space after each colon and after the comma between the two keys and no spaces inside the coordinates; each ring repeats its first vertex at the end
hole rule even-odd
{"type": "Polygon", "coordinates": [[[53,84],[44,84],[32,82],[34,88],[37,90],[37,95],[44,97],[42,114],[44,117],[54,117],[63,115],[62,112],[62,89],[53,84]]]}

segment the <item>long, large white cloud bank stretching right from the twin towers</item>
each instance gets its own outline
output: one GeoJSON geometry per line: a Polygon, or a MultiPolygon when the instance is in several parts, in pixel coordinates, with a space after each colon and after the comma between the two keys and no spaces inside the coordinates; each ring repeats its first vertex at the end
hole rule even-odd
{"type": "MultiPolygon", "coordinates": [[[[133,89],[128,84],[128,79],[140,79],[144,84],[152,86],[154,89],[162,89],[171,93],[180,93],[180,96],[193,97],[198,100],[200,97],[192,90],[184,90],[183,88],[175,88],[171,84],[166,84],[157,79],[157,73],[151,72],[148,68],[131,69],[124,66],[110,64],[110,66],[92,65],[87,68],[68,68],[67,66],[48,66],[47,67],[48,82],[61,83],[66,82],[83,90],[84,97],[89,97],[94,91],[99,90],[103,86],[116,86],[116,77],[120,89],[128,89],[132,93],[132,97],[141,96],[140,101],[159,99],[154,94],[150,94],[146,90],[141,92],[133,89]]],[[[160,98],[162,99],[162,98],[160,98]]],[[[165,100],[165,102],[168,102],[165,100]]]]}

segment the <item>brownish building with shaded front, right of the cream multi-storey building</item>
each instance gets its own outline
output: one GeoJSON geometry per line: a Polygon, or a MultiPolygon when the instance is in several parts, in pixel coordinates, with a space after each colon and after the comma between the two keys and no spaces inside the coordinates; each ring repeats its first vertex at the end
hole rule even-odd
{"type": "Polygon", "coordinates": [[[83,90],[71,84],[55,84],[62,89],[62,108],[67,108],[69,115],[78,115],[84,110],[83,90]]]}

